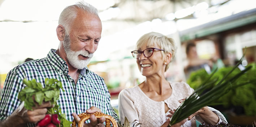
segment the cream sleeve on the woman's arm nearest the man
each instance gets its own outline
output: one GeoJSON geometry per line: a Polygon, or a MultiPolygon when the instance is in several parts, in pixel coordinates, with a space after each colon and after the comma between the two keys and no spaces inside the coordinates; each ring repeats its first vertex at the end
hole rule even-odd
{"type": "Polygon", "coordinates": [[[134,103],[129,91],[122,90],[118,95],[118,111],[121,124],[124,123],[125,117],[132,123],[135,119],[139,120],[138,112],[134,107],[134,103]]]}

